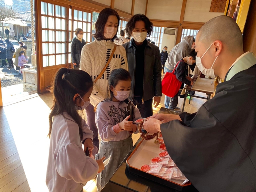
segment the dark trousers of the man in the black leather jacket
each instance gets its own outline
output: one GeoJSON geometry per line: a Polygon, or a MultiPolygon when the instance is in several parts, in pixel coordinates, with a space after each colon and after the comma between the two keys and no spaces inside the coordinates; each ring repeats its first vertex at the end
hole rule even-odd
{"type": "Polygon", "coordinates": [[[147,101],[144,101],[144,103],[142,103],[142,97],[134,96],[132,102],[139,109],[140,115],[142,118],[147,118],[153,115],[153,108],[152,108],[153,99],[149,99],[147,101]]]}

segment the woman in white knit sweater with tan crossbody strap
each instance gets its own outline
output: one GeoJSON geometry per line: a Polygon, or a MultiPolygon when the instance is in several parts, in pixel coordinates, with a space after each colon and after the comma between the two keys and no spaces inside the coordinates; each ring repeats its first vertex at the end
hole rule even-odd
{"type": "MultiPolygon", "coordinates": [[[[81,53],[80,69],[91,75],[95,80],[101,73],[103,67],[109,60],[114,48],[114,40],[119,26],[118,13],[110,8],[105,8],[99,13],[95,23],[95,40],[90,44],[84,45],[81,53]]],[[[91,103],[95,106],[105,98],[108,87],[108,79],[113,69],[124,68],[128,71],[126,52],[123,46],[117,46],[108,68],[102,77],[95,83],[91,94],[91,103]]],[[[86,108],[87,120],[91,131],[93,131],[93,144],[99,148],[98,129],[95,124],[95,112],[93,105],[86,108]]],[[[94,154],[98,151],[94,151],[94,154]]]]}

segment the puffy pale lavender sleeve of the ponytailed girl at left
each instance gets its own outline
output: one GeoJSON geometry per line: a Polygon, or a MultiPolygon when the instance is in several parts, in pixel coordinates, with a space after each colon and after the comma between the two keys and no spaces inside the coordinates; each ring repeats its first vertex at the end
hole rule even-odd
{"type": "Polygon", "coordinates": [[[81,146],[72,143],[63,146],[58,151],[55,163],[61,177],[77,183],[92,180],[99,169],[96,161],[84,155],[81,146]]]}

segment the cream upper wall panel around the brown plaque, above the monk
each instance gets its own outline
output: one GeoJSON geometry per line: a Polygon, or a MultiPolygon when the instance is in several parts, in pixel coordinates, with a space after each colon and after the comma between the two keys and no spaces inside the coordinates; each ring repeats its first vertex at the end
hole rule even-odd
{"type": "Polygon", "coordinates": [[[184,21],[207,22],[214,17],[224,15],[224,12],[209,12],[210,6],[211,0],[187,0],[184,21]]]}

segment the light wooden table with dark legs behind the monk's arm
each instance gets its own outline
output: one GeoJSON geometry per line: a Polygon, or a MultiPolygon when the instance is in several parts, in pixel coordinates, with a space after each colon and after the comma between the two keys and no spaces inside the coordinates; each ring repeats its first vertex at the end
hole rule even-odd
{"type": "MultiPolygon", "coordinates": [[[[192,77],[192,80],[193,80],[193,77],[192,77]]],[[[191,101],[191,97],[206,99],[207,101],[211,98],[211,94],[214,93],[214,79],[197,77],[192,86],[191,85],[186,85],[184,88],[186,90],[186,93],[185,93],[185,98],[184,98],[184,102],[183,102],[182,112],[184,112],[184,107],[185,107],[186,98],[188,96],[188,91],[191,91],[191,92],[192,91],[197,91],[197,92],[207,94],[207,97],[200,97],[200,96],[197,96],[197,95],[190,95],[189,104],[190,104],[190,101],[191,101]]]]}

